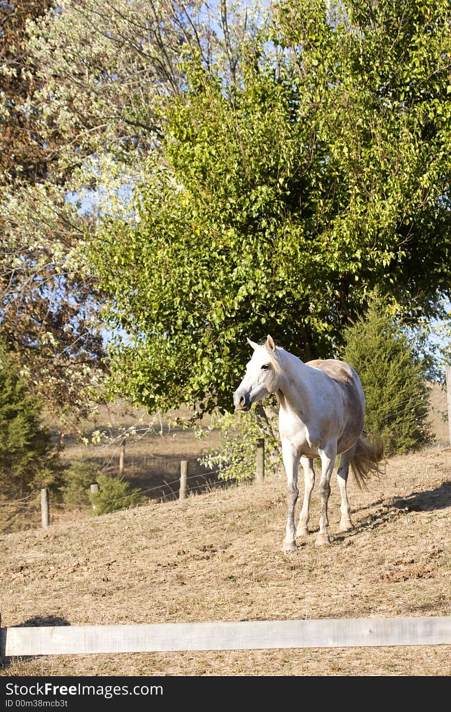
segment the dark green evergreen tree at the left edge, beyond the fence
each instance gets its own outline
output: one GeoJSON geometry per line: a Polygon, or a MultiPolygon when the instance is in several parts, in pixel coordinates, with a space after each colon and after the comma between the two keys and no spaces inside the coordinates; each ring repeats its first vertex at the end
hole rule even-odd
{"type": "Polygon", "coordinates": [[[42,407],[0,343],[0,484],[6,499],[51,486],[58,478],[58,454],[41,425],[42,407]]]}

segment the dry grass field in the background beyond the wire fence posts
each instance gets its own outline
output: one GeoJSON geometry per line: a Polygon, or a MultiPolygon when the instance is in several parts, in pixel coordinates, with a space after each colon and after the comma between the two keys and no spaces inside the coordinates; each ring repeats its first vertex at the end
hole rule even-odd
{"type": "MultiPolygon", "coordinates": [[[[205,492],[218,485],[216,473],[199,464],[202,451],[220,445],[222,438],[212,430],[202,439],[196,439],[194,431],[181,425],[175,426],[177,417],[185,419],[187,409],[180,409],[165,417],[150,417],[145,412],[123,412],[122,407],[103,409],[98,422],[81,424],[87,444],[80,437],[65,436],[61,448],[62,463],[73,461],[92,463],[98,471],[108,475],[118,475],[121,433],[130,426],[137,427],[137,434],[126,438],[123,476],[130,486],[138,488],[145,496],[157,501],[170,501],[178,496],[180,461],[189,462],[188,486],[191,493],[205,492]],[[142,423],[140,423],[142,419],[142,423]],[[147,430],[148,429],[148,430],[147,430]],[[147,430],[147,431],[146,431],[147,430]],[[103,431],[110,436],[110,444],[104,441],[93,443],[93,433],[103,431]]],[[[209,417],[202,424],[207,427],[209,417]]],[[[60,442],[56,426],[47,422],[53,440],[60,442]]],[[[93,479],[94,481],[94,479],[93,479]]],[[[51,519],[56,522],[70,522],[83,519],[89,510],[69,510],[61,502],[51,500],[51,519]]],[[[11,507],[0,505],[0,533],[13,533],[41,526],[41,506],[39,493],[36,496],[11,507]],[[11,516],[11,514],[14,514],[11,516]]]]}

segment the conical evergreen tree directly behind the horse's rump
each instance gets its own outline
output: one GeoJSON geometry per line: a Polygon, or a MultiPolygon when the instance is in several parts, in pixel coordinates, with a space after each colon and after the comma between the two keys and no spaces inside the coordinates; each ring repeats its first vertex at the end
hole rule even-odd
{"type": "Polygon", "coordinates": [[[386,455],[429,444],[426,365],[383,300],[370,300],[344,340],[342,358],[358,372],[366,397],[366,434],[382,437],[386,455]]]}

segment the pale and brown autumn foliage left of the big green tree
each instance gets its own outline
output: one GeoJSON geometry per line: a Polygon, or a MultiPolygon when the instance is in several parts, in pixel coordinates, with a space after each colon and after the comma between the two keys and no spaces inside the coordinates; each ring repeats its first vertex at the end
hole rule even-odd
{"type": "Polygon", "coordinates": [[[188,12],[196,3],[0,3],[0,318],[61,426],[102,382],[105,294],[85,239],[104,211],[127,210],[180,47],[202,35],[188,12]]]}

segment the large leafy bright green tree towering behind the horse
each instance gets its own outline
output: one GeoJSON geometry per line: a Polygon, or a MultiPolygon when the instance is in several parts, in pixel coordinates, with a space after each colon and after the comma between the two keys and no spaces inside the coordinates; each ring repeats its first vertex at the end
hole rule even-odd
{"type": "Polygon", "coordinates": [[[232,408],[246,336],[302,358],[343,343],[380,285],[406,319],[450,292],[450,9],[281,2],[233,73],[185,53],[130,220],[95,269],[128,334],[115,391],[232,408]],[[272,41],[272,50],[269,40],[272,41]]]}

